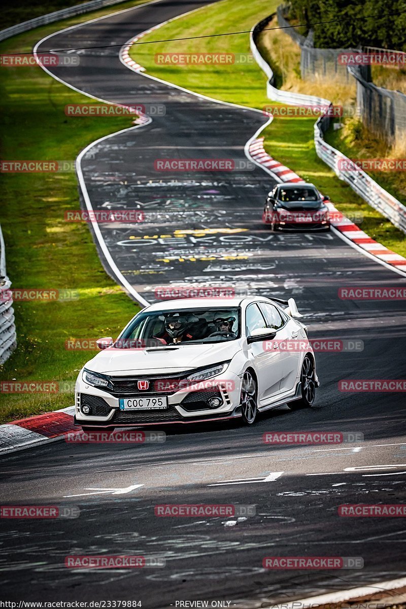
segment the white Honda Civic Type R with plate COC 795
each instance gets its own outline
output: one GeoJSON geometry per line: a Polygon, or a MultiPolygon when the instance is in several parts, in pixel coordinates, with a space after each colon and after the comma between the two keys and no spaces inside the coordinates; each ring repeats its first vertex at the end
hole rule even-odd
{"type": "Polygon", "coordinates": [[[311,406],[319,386],[293,298],[195,298],[142,309],[79,373],[87,431],[241,417],[311,406]]]}

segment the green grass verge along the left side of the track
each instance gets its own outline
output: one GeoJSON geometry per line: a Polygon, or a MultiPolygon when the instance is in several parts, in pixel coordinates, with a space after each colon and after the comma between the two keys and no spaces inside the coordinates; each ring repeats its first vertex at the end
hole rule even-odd
{"type": "MultiPolygon", "coordinates": [[[[120,8],[139,4],[128,2],[120,8]]],[[[0,52],[27,52],[47,33],[113,12],[98,11],[41,27],[4,41],[0,52]]],[[[71,68],[74,69],[74,68],[71,68]]],[[[68,102],[91,102],[39,67],[1,72],[2,158],[74,160],[97,138],[130,127],[130,118],[70,118],[68,102]]],[[[74,172],[2,174],[1,225],[7,273],[13,287],[77,290],[79,298],[15,302],[18,348],[1,379],[74,381],[96,352],[68,351],[71,338],[117,336],[138,306],[105,273],[86,224],[67,223],[66,209],[79,209],[74,172]]],[[[0,423],[73,403],[72,393],[0,395],[0,423]]]]}

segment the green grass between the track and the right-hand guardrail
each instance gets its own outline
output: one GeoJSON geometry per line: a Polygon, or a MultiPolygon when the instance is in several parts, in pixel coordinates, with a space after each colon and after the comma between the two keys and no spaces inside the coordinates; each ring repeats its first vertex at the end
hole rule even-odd
{"type": "MultiPolygon", "coordinates": [[[[278,4],[274,0],[266,4],[262,0],[253,0],[249,4],[243,0],[223,0],[175,19],[142,38],[142,43],[250,30],[254,24],[275,11],[278,4]]],[[[290,38],[284,36],[288,43],[290,38]]],[[[248,33],[139,46],[135,44],[130,55],[146,68],[148,74],[214,99],[259,109],[270,104],[265,94],[265,74],[256,63],[244,66],[237,63],[217,66],[158,65],[155,55],[171,52],[248,53],[248,33]]],[[[278,63],[278,58],[273,60],[274,65],[278,63]]],[[[310,90],[308,92],[311,93],[310,90]]],[[[372,238],[395,252],[406,255],[404,233],[371,208],[348,185],[338,180],[334,172],[317,157],[313,143],[314,122],[313,118],[275,118],[262,132],[265,136],[265,149],[305,180],[315,183],[343,213],[355,213],[357,217],[362,214],[361,226],[372,238]]]]}

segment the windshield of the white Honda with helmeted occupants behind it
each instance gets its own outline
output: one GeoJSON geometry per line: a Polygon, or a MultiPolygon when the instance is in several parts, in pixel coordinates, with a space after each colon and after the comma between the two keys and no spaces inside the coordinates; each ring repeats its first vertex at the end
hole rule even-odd
{"type": "Polygon", "coordinates": [[[240,309],[172,309],[140,313],[124,330],[116,347],[160,347],[235,340],[240,336],[240,309]]]}

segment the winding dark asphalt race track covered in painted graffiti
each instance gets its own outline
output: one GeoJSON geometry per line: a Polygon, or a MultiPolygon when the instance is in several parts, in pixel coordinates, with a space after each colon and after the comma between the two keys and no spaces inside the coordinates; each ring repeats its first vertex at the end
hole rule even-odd
{"type": "MultiPolygon", "coordinates": [[[[164,0],[116,13],[57,33],[39,51],[124,44],[203,4],[164,0]]],[[[164,445],[55,442],[2,459],[3,502],[75,504],[81,510],[75,520],[2,521],[7,596],[141,600],[154,609],[181,600],[223,600],[247,609],[401,577],[401,518],[353,521],[340,518],[337,506],[405,501],[404,395],[342,393],[338,381],[402,378],[406,315],[402,301],[340,300],[338,289],[399,287],[404,278],[334,234],[270,233],[261,210],[273,180],[258,167],[155,171],[159,158],[245,161],[243,147],[265,120],[260,113],[135,74],[119,61],[118,48],[85,51],[79,68],[55,68],[55,76],[112,102],[166,107],[165,116],[106,139],[82,160],[94,209],[138,207],[146,213],[147,224],[100,225],[118,269],[146,300],[153,300],[156,286],[181,281],[294,295],[310,336],[362,340],[363,351],[317,354],[322,385],[316,406],[275,410],[253,428],[166,429],[164,445]],[[360,432],[365,440],[343,446],[262,443],[265,431],[303,429],[360,432]],[[135,485],[141,486],[131,489],[135,485]],[[124,491],[103,493],[109,488],[124,491]],[[255,504],[256,515],[237,523],[154,515],[154,505],[180,502],[255,504]],[[163,556],[167,562],[139,571],[64,566],[66,555],[103,553],[163,556]],[[262,558],[278,555],[362,557],[364,567],[262,569],[262,558]]]]}

